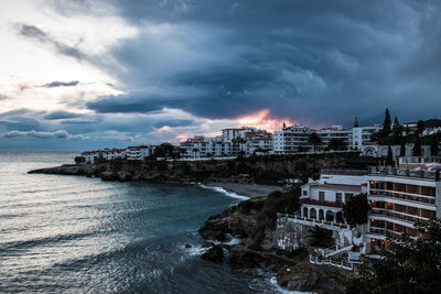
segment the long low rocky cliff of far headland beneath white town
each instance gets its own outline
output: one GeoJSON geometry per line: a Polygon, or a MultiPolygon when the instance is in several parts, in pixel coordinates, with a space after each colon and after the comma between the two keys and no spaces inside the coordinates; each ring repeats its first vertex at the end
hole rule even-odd
{"type": "MultiPolygon", "coordinates": [[[[251,156],[236,160],[185,161],[105,161],[94,164],[62,165],[30,173],[83,175],[104,181],[146,182],[233,182],[279,185],[286,178],[319,176],[322,168],[354,167],[355,152],[292,156],[251,156]]],[[[358,164],[358,167],[363,165],[358,164]]]]}

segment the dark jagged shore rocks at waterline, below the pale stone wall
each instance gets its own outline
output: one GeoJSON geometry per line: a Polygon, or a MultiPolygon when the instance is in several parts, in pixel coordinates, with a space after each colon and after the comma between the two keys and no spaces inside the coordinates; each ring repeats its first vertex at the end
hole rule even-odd
{"type": "Polygon", "coordinates": [[[202,259],[213,262],[225,260],[229,264],[276,272],[277,283],[290,291],[342,290],[343,281],[349,274],[347,271],[311,264],[309,253],[312,248],[291,252],[281,250],[276,244],[275,228],[268,226],[256,233],[256,228],[261,227],[261,215],[254,209],[244,211],[240,206],[209,217],[200,228],[198,233],[207,240],[205,246],[211,246],[202,259]],[[228,244],[229,236],[238,238],[239,242],[228,244]]]}

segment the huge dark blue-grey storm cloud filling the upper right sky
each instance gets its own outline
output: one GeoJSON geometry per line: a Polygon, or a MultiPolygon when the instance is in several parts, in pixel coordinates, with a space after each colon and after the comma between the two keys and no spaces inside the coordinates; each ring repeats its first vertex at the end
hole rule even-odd
{"type": "Polygon", "coordinates": [[[123,112],[172,105],[226,118],[269,108],[293,120],[351,124],[355,115],[370,121],[385,107],[404,120],[438,116],[432,106],[441,107],[437,1],[112,4],[140,30],[112,52],[129,69],[115,72],[128,89],[153,83],[203,91],[182,100],[163,96],[160,102],[147,95],[130,106],[115,97],[112,105],[118,108],[121,98],[123,112]],[[171,28],[158,37],[144,31],[146,23],[171,28]]]}

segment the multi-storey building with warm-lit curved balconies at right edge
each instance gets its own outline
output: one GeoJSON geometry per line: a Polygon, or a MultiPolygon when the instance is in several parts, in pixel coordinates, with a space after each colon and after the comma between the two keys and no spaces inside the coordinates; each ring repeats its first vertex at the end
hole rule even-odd
{"type": "Polygon", "coordinates": [[[399,168],[372,167],[368,176],[372,210],[366,235],[369,252],[388,249],[387,235],[407,233],[417,238],[416,221],[441,217],[440,167],[439,163],[423,163],[415,157],[400,159],[399,168]]]}

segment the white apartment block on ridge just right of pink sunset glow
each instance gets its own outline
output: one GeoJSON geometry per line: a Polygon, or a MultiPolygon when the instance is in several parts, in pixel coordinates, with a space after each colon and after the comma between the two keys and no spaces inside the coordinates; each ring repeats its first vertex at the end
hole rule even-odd
{"type": "Polygon", "coordinates": [[[292,154],[302,148],[309,148],[309,135],[310,130],[301,123],[283,126],[281,131],[275,131],[272,135],[275,154],[292,154]]]}

